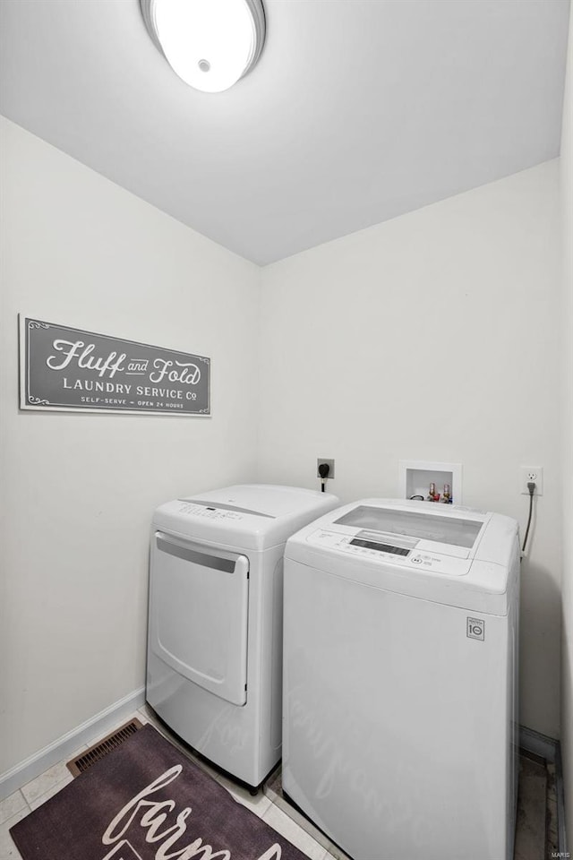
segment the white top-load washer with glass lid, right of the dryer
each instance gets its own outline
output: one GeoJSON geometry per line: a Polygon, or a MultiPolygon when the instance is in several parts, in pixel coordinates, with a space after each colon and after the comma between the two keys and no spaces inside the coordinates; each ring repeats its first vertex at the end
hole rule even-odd
{"type": "Polygon", "coordinates": [[[366,499],[285,550],[283,788],[354,860],[511,860],[517,522],[366,499]]]}

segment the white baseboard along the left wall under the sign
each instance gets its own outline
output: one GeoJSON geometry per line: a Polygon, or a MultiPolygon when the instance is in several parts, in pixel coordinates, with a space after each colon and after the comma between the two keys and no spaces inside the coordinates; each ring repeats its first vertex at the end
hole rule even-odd
{"type": "Polygon", "coordinates": [[[130,692],[123,699],[115,701],[109,708],[101,710],[95,717],[81,723],[81,726],[73,728],[71,732],[58,737],[53,744],[45,746],[38,753],[30,755],[15,765],[11,770],[0,774],[0,800],[4,800],[25,786],[30,779],[34,779],[57,761],[62,761],[80,749],[84,744],[94,744],[98,737],[107,735],[122,719],[128,718],[134,710],[138,710],[145,702],[145,687],[130,692]]]}

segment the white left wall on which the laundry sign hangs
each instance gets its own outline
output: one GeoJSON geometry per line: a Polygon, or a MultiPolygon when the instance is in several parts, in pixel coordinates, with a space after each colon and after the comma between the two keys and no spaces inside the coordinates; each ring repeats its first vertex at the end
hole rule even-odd
{"type": "Polygon", "coordinates": [[[252,480],[260,271],[2,120],[0,774],[144,684],[154,507],[252,480]],[[18,409],[17,314],[212,359],[212,417],[18,409]]]}

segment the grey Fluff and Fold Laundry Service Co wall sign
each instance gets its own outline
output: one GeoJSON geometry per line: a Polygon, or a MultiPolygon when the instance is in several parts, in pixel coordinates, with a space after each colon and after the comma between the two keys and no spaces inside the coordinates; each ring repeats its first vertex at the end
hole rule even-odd
{"type": "Polygon", "coordinates": [[[210,415],[210,358],[20,315],[20,408],[210,415]]]}

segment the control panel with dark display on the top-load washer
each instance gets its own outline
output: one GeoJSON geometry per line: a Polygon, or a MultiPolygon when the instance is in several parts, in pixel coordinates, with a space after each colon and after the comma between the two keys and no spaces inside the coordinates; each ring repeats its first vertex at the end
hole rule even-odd
{"type": "MultiPolygon", "coordinates": [[[[397,536],[398,537],[398,536],[397,536]]],[[[425,570],[433,573],[447,573],[450,576],[463,576],[469,571],[470,561],[448,555],[436,555],[406,546],[392,546],[388,543],[366,540],[354,535],[319,529],[307,538],[315,546],[336,549],[372,562],[399,564],[409,569],[425,570]]]]}

